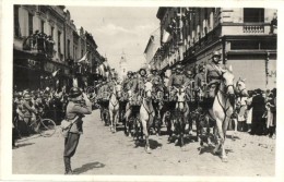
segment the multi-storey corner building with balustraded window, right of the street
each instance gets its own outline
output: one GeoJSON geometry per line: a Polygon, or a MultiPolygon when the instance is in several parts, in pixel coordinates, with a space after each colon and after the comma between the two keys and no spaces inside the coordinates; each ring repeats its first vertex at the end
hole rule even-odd
{"type": "Polygon", "coordinates": [[[247,87],[273,88],[276,76],[276,10],[263,8],[159,8],[162,69],[187,69],[222,53],[247,87]],[[251,70],[255,70],[251,72],[251,70]]]}

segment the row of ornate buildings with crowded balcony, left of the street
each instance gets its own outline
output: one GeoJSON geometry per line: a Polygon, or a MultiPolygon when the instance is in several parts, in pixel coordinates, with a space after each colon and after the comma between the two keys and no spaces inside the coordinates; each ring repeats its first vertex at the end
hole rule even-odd
{"type": "Polygon", "coordinates": [[[96,49],[93,36],[76,29],[64,5],[14,5],[13,82],[19,89],[71,87],[73,78],[79,86],[92,85],[104,61],[96,49]]]}

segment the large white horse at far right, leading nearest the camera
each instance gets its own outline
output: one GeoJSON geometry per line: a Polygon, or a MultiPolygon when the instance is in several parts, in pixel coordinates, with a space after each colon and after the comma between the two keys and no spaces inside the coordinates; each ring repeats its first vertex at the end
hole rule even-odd
{"type": "Polygon", "coordinates": [[[217,87],[217,94],[213,101],[213,107],[209,109],[209,114],[216,121],[216,137],[217,145],[213,153],[218,154],[221,151],[222,161],[227,161],[227,155],[225,151],[226,131],[230,116],[234,110],[235,90],[234,90],[234,75],[232,73],[232,66],[228,70],[221,70],[222,80],[217,87]]]}

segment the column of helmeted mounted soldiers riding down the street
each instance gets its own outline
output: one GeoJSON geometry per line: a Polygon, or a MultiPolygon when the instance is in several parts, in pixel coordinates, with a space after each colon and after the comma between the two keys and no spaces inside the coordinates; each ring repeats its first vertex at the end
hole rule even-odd
{"type": "MultiPolygon", "coordinates": [[[[194,70],[185,70],[178,62],[171,69],[170,75],[165,73],[161,75],[156,68],[151,68],[150,73],[145,69],[140,69],[139,72],[129,71],[123,81],[119,81],[115,76],[111,77],[111,81],[106,78],[99,81],[95,89],[95,102],[99,105],[102,120],[105,120],[106,124],[110,124],[113,120],[108,113],[110,106],[115,107],[114,101],[110,101],[111,94],[114,94],[119,107],[118,121],[125,123],[127,135],[135,129],[134,124],[139,125],[141,107],[144,108],[149,118],[153,117],[153,120],[147,123],[147,128],[154,129],[154,133],[161,134],[161,128],[165,124],[169,139],[173,138],[175,132],[182,131],[181,133],[185,134],[187,131],[188,134],[192,134],[192,121],[194,120],[197,132],[201,132],[197,134],[202,134],[203,130],[198,131],[198,129],[212,124],[209,122],[210,117],[203,118],[204,121],[201,121],[201,117],[204,117],[206,111],[212,108],[222,75],[224,70],[227,70],[221,58],[220,52],[214,51],[210,63],[197,64],[194,70]],[[114,90],[117,89],[116,85],[120,85],[121,90],[114,90]],[[150,90],[146,88],[149,85],[150,90]],[[146,95],[150,94],[149,92],[151,93],[151,105],[143,102],[143,99],[146,99],[146,95]],[[117,95],[118,93],[119,95],[117,95]],[[106,113],[108,117],[104,116],[106,113]],[[181,124],[176,122],[180,116],[184,120],[181,124]]],[[[234,89],[235,97],[240,95],[236,88],[234,89]]],[[[111,131],[116,131],[116,129],[111,129],[111,131]]]]}

